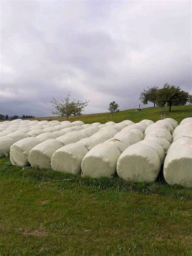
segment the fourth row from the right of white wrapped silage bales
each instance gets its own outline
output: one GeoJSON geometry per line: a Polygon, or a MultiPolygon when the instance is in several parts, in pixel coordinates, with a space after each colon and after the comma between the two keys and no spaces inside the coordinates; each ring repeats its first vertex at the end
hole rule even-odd
{"type": "Polygon", "coordinates": [[[51,168],[54,171],[65,173],[81,173],[81,162],[88,151],[107,139],[111,139],[118,131],[126,127],[126,125],[107,122],[97,127],[100,128],[100,130],[92,135],[90,134],[90,137],[82,138],[76,143],[65,145],[55,151],[51,158],[51,168]]]}

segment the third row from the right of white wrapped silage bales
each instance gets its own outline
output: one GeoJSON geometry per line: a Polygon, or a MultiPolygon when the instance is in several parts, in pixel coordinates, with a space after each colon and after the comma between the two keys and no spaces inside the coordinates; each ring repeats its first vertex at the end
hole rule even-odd
{"type": "Polygon", "coordinates": [[[121,131],[117,132],[113,138],[93,147],[84,156],[81,163],[81,170],[84,176],[113,177],[116,173],[119,156],[126,150],[126,148],[130,147],[130,145],[143,139],[143,133],[147,127],[147,124],[134,124],[129,120],[125,120],[119,123],[119,125],[122,126],[121,131]],[[126,126],[123,127],[123,125],[126,126]]]}

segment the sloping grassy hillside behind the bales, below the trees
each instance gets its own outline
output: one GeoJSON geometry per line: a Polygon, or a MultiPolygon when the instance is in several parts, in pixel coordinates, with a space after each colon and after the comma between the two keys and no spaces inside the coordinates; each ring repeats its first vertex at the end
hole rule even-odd
{"type": "MultiPolygon", "coordinates": [[[[136,111],[137,109],[128,109],[124,111],[120,111],[119,113],[114,113],[113,121],[114,122],[122,122],[123,120],[129,119],[132,120],[134,123],[140,122],[143,119],[150,119],[154,122],[161,119],[161,111],[165,111],[166,117],[171,117],[175,119],[177,122],[181,122],[182,119],[186,117],[192,116],[192,105],[185,105],[179,107],[172,107],[171,112],[169,112],[169,107],[150,107],[144,108],[141,111],[136,111]]],[[[66,117],[37,117],[37,118],[30,118],[30,120],[59,120],[64,121],[66,117]]],[[[81,116],[71,116],[69,117],[69,121],[73,122],[76,120],[81,120],[85,124],[92,124],[94,122],[100,122],[104,124],[108,121],[111,121],[111,114],[110,113],[99,113],[99,114],[90,114],[90,115],[81,115],[81,116]]]]}

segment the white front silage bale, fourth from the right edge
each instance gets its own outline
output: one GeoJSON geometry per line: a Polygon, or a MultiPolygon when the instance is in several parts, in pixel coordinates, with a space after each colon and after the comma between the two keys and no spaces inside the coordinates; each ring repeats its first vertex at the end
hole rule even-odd
{"type": "Polygon", "coordinates": [[[82,144],[72,143],[61,147],[51,158],[51,168],[54,171],[80,174],[81,161],[88,150],[82,144]]]}

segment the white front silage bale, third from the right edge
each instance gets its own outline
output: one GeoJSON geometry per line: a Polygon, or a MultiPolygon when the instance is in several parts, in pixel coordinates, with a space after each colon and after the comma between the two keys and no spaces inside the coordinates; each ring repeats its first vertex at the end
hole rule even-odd
{"type": "Polygon", "coordinates": [[[113,177],[116,173],[120,151],[110,143],[101,143],[93,147],[83,158],[81,170],[88,177],[113,177]]]}

